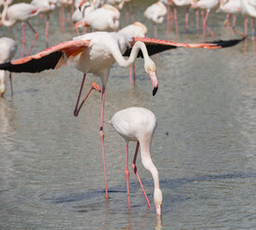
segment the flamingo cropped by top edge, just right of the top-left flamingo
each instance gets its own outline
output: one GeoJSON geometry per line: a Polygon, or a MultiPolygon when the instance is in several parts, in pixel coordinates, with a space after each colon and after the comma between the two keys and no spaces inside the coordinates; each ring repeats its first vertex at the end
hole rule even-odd
{"type": "Polygon", "coordinates": [[[47,15],[47,22],[46,22],[46,45],[48,46],[48,27],[49,27],[49,14],[52,13],[57,4],[57,0],[33,0],[31,2],[32,5],[44,8],[41,11],[41,14],[47,15]]]}

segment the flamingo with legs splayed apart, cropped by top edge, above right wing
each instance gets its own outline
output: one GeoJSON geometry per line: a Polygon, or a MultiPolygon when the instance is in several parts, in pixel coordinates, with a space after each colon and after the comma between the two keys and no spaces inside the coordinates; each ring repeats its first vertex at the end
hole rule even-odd
{"type": "Polygon", "coordinates": [[[203,37],[206,38],[206,29],[208,29],[210,35],[215,38],[215,34],[209,29],[207,25],[207,19],[209,17],[209,12],[211,9],[217,9],[219,6],[219,0],[199,0],[198,2],[195,2],[191,7],[192,8],[201,8],[206,9],[207,13],[206,16],[203,19],[203,37]]]}

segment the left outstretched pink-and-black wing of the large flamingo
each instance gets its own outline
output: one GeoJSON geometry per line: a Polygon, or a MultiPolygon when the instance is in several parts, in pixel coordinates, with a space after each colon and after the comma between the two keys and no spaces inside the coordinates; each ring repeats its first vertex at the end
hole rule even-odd
{"type": "Polygon", "coordinates": [[[0,70],[12,72],[40,72],[43,70],[57,69],[65,65],[69,57],[74,57],[84,51],[89,45],[89,40],[75,40],[51,46],[33,56],[23,57],[0,64],[0,70]]]}

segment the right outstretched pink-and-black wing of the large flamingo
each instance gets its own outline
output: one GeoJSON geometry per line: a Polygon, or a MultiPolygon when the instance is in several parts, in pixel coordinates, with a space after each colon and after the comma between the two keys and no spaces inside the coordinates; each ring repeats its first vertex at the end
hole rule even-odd
{"type": "MultiPolygon", "coordinates": [[[[153,39],[146,37],[134,37],[130,42],[130,45],[134,45],[136,42],[141,41],[147,46],[149,56],[155,55],[157,53],[163,52],[168,49],[175,49],[178,47],[188,47],[188,48],[206,48],[206,49],[218,49],[225,48],[229,46],[236,45],[242,42],[245,39],[234,39],[227,41],[214,41],[209,43],[201,43],[201,44],[184,44],[184,43],[175,43],[171,41],[161,40],[161,39],[153,39]]],[[[131,52],[131,48],[128,48],[123,56],[129,57],[131,52]]],[[[143,57],[141,50],[138,53],[138,57],[143,57]]]]}

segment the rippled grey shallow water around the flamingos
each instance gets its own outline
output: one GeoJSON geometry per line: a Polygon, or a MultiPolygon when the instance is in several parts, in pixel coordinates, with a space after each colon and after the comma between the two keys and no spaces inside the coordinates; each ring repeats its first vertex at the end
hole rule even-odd
{"type": "MultiPolygon", "coordinates": [[[[136,2],[135,19],[153,1],[136,2]]],[[[124,8],[123,13],[126,12],[124,8]]],[[[123,14],[121,24],[125,24],[123,14]]],[[[163,39],[201,42],[191,14],[185,33],[166,24],[163,39]]],[[[209,16],[218,38],[232,38],[224,15],[209,16]]],[[[32,19],[40,33],[34,53],[45,48],[44,20],[32,19]]],[[[242,19],[237,29],[243,29],[242,19]]],[[[19,42],[21,28],[0,29],[19,42]]],[[[33,34],[28,33],[31,41],[33,34]]],[[[58,12],[51,17],[50,45],[72,38],[61,33],[58,12]]],[[[208,37],[208,40],[212,40],[208,37]]],[[[256,78],[250,39],[222,50],[185,49],[154,57],[159,89],[136,64],[136,85],[128,70],[111,70],[105,102],[105,151],[110,200],[104,199],[101,160],[101,95],[93,93],[78,118],[73,110],[82,73],[73,67],[38,74],[14,74],[14,98],[0,98],[0,229],[255,229],[256,228],[256,78]],[[152,158],[163,191],[163,216],[155,217],[153,181],[139,156],[138,172],[152,208],[130,172],[131,211],[125,179],[125,143],[108,124],[115,111],[130,106],[151,109],[157,118],[152,158]]],[[[98,78],[89,76],[86,89],[98,78]]],[[[135,144],[130,144],[132,161],[135,144]]],[[[130,168],[131,170],[131,168],[130,168]]]]}

